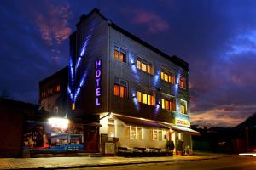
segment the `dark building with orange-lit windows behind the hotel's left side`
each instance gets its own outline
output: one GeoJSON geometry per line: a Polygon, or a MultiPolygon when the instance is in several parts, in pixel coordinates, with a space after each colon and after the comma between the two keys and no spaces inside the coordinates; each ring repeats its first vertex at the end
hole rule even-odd
{"type": "Polygon", "coordinates": [[[68,67],[55,72],[39,82],[39,110],[48,111],[53,116],[67,114],[68,67]]]}

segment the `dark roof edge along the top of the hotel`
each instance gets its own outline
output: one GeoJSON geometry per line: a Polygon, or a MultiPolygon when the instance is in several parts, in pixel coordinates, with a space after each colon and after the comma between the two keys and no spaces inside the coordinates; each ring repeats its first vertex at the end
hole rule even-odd
{"type": "Polygon", "coordinates": [[[80,17],[80,20],[79,20],[79,22],[77,23],[76,26],[78,26],[80,23],[82,23],[87,17],[89,17],[93,13],[99,14],[102,17],[103,20],[109,21],[109,26],[111,26],[114,30],[119,31],[119,32],[123,33],[125,36],[130,37],[132,40],[143,44],[143,46],[145,46],[146,48],[151,49],[156,54],[160,54],[160,56],[170,60],[172,63],[174,63],[176,65],[179,65],[185,71],[189,71],[189,63],[187,63],[183,59],[177,57],[176,55],[173,55],[171,57],[170,55],[165,54],[164,52],[162,52],[160,49],[155,48],[154,46],[150,45],[148,42],[144,42],[141,38],[131,34],[131,32],[125,31],[125,29],[121,28],[120,26],[117,26],[112,20],[108,20],[108,18],[106,18],[104,15],[102,15],[98,8],[92,9],[89,14],[83,14],[80,17]]]}

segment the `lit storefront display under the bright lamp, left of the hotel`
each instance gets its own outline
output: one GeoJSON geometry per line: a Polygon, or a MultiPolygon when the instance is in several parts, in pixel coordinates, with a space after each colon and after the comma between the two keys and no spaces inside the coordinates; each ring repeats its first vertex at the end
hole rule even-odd
{"type": "Polygon", "coordinates": [[[49,122],[26,122],[23,134],[24,150],[83,150],[82,124],[69,123],[67,128],[49,122]]]}

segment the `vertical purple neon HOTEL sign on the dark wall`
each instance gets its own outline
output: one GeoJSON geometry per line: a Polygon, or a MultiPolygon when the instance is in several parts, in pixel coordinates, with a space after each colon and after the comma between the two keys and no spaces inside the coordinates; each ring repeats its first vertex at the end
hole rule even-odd
{"type": "Polygon", "coordinates": [[[96,77],[96,106],[101,105],[100,97],[102,95],[101,79],[102,79],[102,59],[97,59],[95,62],[95,77],[96,77]]]}

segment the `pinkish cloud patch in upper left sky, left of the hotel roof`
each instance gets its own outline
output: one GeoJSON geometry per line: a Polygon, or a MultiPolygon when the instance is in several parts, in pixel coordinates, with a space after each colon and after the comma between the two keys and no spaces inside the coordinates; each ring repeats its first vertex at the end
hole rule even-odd
{"type": "Polygon", "coordinates": [[[71,34],[72,30],[67,26],[71,18],[68,4],[54,6],[49,4],[48,13],[38,14],[36,23],[42,38],[48,45],[61,44],[71,34]]]}

